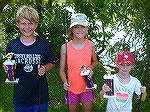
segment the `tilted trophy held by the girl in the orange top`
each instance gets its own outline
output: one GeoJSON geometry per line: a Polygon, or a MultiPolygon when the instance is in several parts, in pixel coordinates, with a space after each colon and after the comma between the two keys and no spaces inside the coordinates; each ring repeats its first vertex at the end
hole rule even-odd
{"type": "Polygon", "coordinates": [[[86,68],[86,65],[83,65],[81,67],[81,76],[84,78],[86,82],[86,89],[96,89],[97,84],[93,84],[93,81],[91,78],[89,78],[90,70],[86,68]]]}

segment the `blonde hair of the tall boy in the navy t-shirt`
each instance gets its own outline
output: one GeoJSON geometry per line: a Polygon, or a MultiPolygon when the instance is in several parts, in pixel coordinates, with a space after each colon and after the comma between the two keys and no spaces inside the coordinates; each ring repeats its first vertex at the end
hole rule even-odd
{"type": "Polygon", "coordinates": [[[22,6],[17,11],[16,21],[19,22],[23,18],[29,20],[30,22],[39,22],[38,12],[30,6],[22,6]]]}

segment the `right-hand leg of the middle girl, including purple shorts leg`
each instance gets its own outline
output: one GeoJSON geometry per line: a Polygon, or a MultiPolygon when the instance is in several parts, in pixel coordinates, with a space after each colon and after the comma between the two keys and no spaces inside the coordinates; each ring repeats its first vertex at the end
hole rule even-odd
{"type": "Polygon", "coordinates": [[[80,99],[83,104],[83,112],[91,112],[93,103],[93,91],[89,90],[87,92],[81,93],[80,99]]]}

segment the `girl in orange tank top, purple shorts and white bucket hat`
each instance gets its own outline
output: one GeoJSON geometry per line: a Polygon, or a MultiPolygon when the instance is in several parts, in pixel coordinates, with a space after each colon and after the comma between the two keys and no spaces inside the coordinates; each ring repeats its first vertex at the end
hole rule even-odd
{"type": "Polygon", "coordinates": [[[88,21],[86,15],[82,13],[74,14],[68,32],[71,40],[62,45],[60,58],[60,77],[64,83],[64,89],[68,90],[69,112],[77,112],[79,102],[82,102],[83,112],[91,112],[92,110],[93,91],[85,89],[86,83],[80,75],[81,67],[86,65],[91,72],[90,76],[92,76],[92,69],[95,68],[97,62],[95,46],[93,42],[88,40],[87,33],[88,21]],[[67,74],[65,73],[66,60],[67,74]]]}

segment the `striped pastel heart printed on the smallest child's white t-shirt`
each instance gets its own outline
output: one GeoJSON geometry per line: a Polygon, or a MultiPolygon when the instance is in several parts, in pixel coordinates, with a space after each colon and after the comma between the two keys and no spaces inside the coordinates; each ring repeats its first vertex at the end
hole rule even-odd
{"type": "Polygon", "coordinates": [[[117,105],[117,107],[124,106],[127,103],[128,98],[129,98],[129,95],[127,93],[121,93],[118,91],[116,93],[116,105],[117,105]]]}

